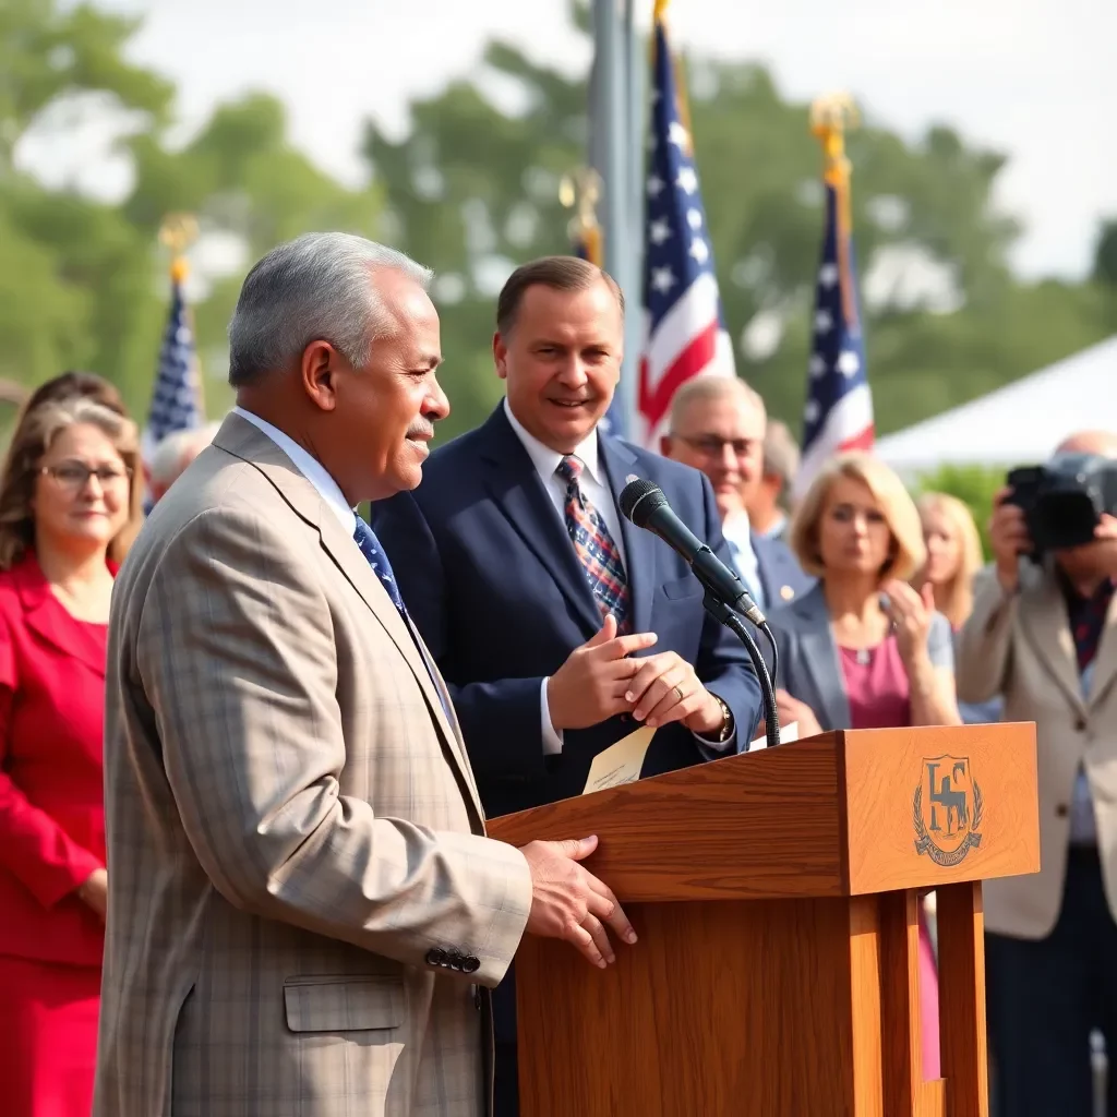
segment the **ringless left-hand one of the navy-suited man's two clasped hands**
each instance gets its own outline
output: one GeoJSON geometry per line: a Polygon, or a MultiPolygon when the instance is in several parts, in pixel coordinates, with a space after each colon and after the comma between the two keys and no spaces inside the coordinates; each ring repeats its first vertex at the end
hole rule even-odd
{"type": "Polygon", "coordinates": [[[600,631],[547,679],[547,709],[555,729],[585,729],[627,714],[631,703],[624,694],[642,662],[628,657],[650,648],[656,639],[655,632],[618,636],[617,618],[610,613],[600,631]]]}

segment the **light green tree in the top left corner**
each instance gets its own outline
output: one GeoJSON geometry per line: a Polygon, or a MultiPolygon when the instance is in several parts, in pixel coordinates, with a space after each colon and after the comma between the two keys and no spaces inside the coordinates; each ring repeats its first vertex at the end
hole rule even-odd
{"type": "Polygon", "coordinates": [[[127,114],[139,128],[165,118],[171,86],[123,57],[136,26],[88,4],[0,6],[0,375],[34,383],[85,364],[126,386],[149,343],[136,231],[116,207],[45,190],[13,162],[32,130],[65,145],[63,108],[127,114]]]}

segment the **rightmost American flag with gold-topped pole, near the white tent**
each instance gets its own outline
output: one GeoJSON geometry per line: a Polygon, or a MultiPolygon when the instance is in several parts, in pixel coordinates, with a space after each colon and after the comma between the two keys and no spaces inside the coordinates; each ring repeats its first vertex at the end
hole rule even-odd
{"type": "Polygon", "coordinates": [[[872,448],[872,397],[865,370],[846,173],[828,175],[827,181],[827,228],[815,288],[796,496],[806,491],[836,454],[872,448]]]}

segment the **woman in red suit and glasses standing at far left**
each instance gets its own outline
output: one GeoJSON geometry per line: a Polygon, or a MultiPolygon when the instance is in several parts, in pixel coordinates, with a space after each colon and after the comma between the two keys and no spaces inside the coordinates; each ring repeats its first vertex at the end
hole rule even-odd
{"type": "Polygon", "coordinates": [[[9,1117],[88,1117],[107,876],[108,600],[134,534],[133,423],[34,407],[0,477],[0,1091],[9,1117]]]}

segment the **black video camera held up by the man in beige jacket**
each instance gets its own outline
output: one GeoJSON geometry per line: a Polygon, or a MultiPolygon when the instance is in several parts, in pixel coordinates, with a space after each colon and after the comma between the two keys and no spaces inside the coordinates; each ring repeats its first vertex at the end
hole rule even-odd
{"type": "Polygon", "coordinates": [[[1057,454],[1046,466],[1010,471],[1008,503],[1024,514],[1032,557],[1094,538],[1102,513],[1117,515],[1117,460],[1097,454],[1057,454]]]}

